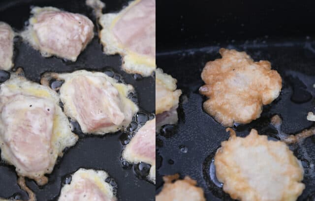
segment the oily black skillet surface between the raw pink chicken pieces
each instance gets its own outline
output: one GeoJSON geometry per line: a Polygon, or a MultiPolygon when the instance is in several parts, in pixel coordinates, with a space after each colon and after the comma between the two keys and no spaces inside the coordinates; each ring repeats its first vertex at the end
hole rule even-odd
{"type": "MultiPolygon", "coordinates": [[[[119,11],[127,4],[127,0],[104,1],[106,8],[103,12],[119,11]]],[[[15,31],[24,28],[24,23],[30,17],[30,6],[54,6],[66,11],[81,13],[88,16],[95,24],[92,9],[87,8],[85,0],[5,0],[0,2],[0,21],[11,25],[15,31]]],[[[95,29],[96,33],[96,29],[95,29]]],[[[106,56],[102,46],[95,38],[87,46],[76,62],[65,62],[60,58],[41,57],[39,52],[23,43],[19,38],[15,43],[15,67],[23,67],[26,78],[39,82],[42,73],[72,72],[78,69],[105,71],[108,69],[121,75],[126,83],[135,87],[138,94],[140,110],[146,113],[155,111],[155,81],[153,77],[135,80],[133,75],[123,72],[120,68],[121,57],[106,56]]],[[[143,117],[142,115],[140,118],[143,117]]],[[[143,122],[145,119],[139,119],[143,122]]],[[[123,150],[122,137],[124,133],[115,133],[105,137],[83,137],[74,147],[69,148],[59,160],[52,174],[48,175],[49,183],[38,187],[34,181],[27,179],[27,185],[34,191],[38,201],[50,201],[58,198],[64,178],[79,168],[105,170],[118,184],[118,199],[120,201],[153,201],[154,185],[136,177],[133,167],[123,169],[120,160],[123,150]]],[[[16,184],[16,173],[12,166],[0,163],[0,197],[9,198],[17,195],[27,200],[27,194],[16,184]]]]}

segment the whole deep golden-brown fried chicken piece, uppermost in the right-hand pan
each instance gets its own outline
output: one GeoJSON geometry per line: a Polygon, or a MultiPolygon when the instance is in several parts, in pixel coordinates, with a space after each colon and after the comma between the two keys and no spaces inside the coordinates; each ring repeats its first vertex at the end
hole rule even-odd
{"type": "Polygon", "coordinates": [[[224,126],[249,123],[279,96],[282,79],[269,61],[254,62],[245,52],[223,48],[220,54],[201,73],[206,84],[199,92],[209,98],[203,108],[224,126]]]}

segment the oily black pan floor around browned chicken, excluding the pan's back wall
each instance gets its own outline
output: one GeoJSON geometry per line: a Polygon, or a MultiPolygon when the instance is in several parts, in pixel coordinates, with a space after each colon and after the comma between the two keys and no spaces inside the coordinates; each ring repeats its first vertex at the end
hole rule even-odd
{"type": "MultiPolygon", "coordinates": [[[[229,134],[203,111],[202,103],[206,99],[198,93],[198,88],[203,85],[201,71],[207,61],[221,57],[221,47],[246,51],[254,60],[269,60],[283,79],[280,96],[264,107],[260,118],[235,128],[238,136],[247,136],[252,128],[257,129],[259,134],[276,136],[277,130],[269,124],[273,115],[282,117],[282,131],[287,134],[295,134],[315,125],[306,119],[307,113],[314,112],[315,107],[315,42],[310,37],[287,41],[266,38],[226,41],[206,48],[159,52],[157,65],[177,79],[177,87],[182,89],[183,95],[178,109],[178,125],[173,132],[157,136],[157,192],[162,186],[161,175],[178,172],[196,179],[208,201],[231,200],[209,176],[210,162],[229,134]],[[187,149],[183,149],[183,146],[187,149]]],[[[289,147],[302,160],[305,170],[303,183],[306,188],[298,200],[313,201],[315,138],[312,136],[302,144],[289,147]]]]}

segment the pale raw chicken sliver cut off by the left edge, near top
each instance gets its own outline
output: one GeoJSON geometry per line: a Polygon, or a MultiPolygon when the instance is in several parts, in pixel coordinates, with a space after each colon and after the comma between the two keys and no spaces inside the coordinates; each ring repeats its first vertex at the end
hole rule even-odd
{"type": "Polygon", "coordinates": [[[13,66],[13,38],[14,31],[12,28],[0,22],[0,69],[10,70],[13,66]]]}

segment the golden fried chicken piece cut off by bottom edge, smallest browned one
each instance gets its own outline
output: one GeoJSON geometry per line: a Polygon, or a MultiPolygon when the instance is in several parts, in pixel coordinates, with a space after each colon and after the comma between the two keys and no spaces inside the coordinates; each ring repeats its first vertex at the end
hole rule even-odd
{"type": "Polygon", "coordinates": [[[179,179],[179,174],[174,174],[163,176],[163,180],[165,183],[156,201],[206,201],[202,188],[189,176],[179,179]]]}

